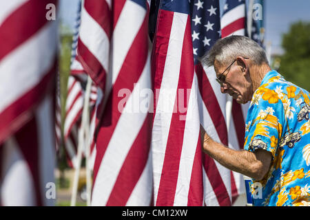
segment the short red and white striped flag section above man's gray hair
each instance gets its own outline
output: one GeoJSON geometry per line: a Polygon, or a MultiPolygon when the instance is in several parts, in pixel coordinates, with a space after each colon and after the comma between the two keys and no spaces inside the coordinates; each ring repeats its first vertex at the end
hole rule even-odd
{"type": "Polygon", "coordinates": [[[222,38],[230,35],[245,35],[245,4],[229,10],[220,19],[222,38]]]}

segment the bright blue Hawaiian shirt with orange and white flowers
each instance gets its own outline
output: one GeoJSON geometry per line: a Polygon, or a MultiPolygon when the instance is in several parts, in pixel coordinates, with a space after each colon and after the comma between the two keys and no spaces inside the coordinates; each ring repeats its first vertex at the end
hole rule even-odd
{"type": "Polygon", "coordinates": [[[247,113],[245,150],[271,152],[269,173],[252,179],[254,206],[310,206],[310,95],[272,70],[247,113]],[[260,186],[260,190],[258,190],[260,186]]]}

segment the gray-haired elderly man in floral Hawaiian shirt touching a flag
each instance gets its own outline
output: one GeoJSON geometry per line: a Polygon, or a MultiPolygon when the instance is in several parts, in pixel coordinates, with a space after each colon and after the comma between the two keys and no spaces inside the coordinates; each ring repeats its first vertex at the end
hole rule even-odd
{"type": "Polygon", "coordinates": [[[262,186],[254,206],[310,206],[309,92],[271,70],[260,45],[245,36],[220,39],[203,56],[214,65],[222,93],[251,101],[245,151],[214,142],[201,127],[203,151],[262,186]]]}

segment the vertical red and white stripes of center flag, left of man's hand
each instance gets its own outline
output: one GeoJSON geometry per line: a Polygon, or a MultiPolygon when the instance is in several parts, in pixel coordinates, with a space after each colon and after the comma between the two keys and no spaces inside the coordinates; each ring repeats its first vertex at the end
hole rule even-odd
{"type": "Polygon", "coordinates": [[[193,166],[197,162],[194,158],[201,155],[190,19],[187,14],[161,10],[157,21],[152,59],[156,94],[152,131],[154,205],[201,206],[203,172],[200,163],[200,174],[194,175],[197,170],[193,166]],[[174,41],[169,41],[169,36],[174,41]],[[178,106],[183,98],[184,111],[178,106]]]}

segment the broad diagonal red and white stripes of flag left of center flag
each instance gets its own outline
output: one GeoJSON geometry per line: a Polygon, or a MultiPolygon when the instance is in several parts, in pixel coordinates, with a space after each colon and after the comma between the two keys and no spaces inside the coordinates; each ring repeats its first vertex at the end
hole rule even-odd
{"type": "Polygon", "coordinates": [[[151,202],[151,118],[132,112],[141,90],[151,88],[147,21],[147,10],[134,1],[85,0],[82,7],[78,60],[100,88],[99,96],[105,91],[99,99],[105,108],[98,109],[93,206],[151,202]],[[130,94],[120,97],[121,89],[130,94]]]}

